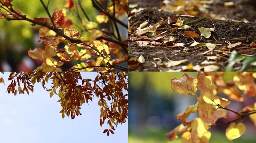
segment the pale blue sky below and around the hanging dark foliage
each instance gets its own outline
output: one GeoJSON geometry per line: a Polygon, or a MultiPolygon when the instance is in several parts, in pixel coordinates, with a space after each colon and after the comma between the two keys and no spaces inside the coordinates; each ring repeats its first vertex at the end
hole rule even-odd
{"type": "MultiPolygon", "coordinates": [[[[82,73],[83,78],[95,78],[95,75],[82,73]]],[[[8,95],[7,76],[9,73],[4,73],[6,84],[0,84],[1,143],[128,143],[128,120],[116,128],[115,134],[109,137],[103,134],[107,125],[100,127],[100,107],[96,98],[81,107],[79,117],[62,119],[57,95],[50,98],[49,92],[38,83],[29,96],[8,95]]]]}

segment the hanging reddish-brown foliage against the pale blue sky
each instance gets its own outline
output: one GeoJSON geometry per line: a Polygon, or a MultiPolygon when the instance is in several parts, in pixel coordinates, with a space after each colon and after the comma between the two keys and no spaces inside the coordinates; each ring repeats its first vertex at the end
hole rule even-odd
{"type": "MultiPolygon", "coordinates": [[[[2,72],[3,74],[6,74],[2,72]]],[[[89,74],[89,73],[88,73],[89,74]]],[[[0,83],[4,84],[3,77],[0,83]]],[[[41,83],[42,88],[49,92],[49,96],[57,95],[62,107],[62,117],[81,115],[81,106],[89,101],[98,99],[100,109],[100,126],[108,124],[109,128],[103,133],[114,133],[118,124],[126,123],[128,118],[128,73],[126,72],[99,72],[95,79],[83,79],[80,72],[11,72],[10,84],[7,92],[21,95],[31,94],[34,84],[41,83]],[[46,86],[51,83],[51,86],[46,86]]]]}

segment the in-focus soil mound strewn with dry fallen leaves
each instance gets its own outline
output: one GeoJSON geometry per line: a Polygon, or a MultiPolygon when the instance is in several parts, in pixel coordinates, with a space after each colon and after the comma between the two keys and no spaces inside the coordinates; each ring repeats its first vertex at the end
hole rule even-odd
{"type": "MultiPolygon", "coordinates": [[[[137,65],[130,70],[224,71],[232,51],[255,56],[255,23],[177,15],[158,8],[143,8],[128,19],[129,63],[134,60],[137,65]],[[143,64],[141,56],[147,57],[143,64]]],[[[243,63],[237,60],[233,66],[232,70],[241,70],[243,63]]]]}

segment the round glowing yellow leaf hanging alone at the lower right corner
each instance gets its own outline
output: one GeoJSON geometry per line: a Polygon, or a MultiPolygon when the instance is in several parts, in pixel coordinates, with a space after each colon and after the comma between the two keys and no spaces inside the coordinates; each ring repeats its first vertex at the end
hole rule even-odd
{"type": "Polygon", "coordinates": [[[234,139],[237,139],[238,137],[241,137],[246,131],[246,126],[244,123],[230,123],[228,128],[226,129],[226,137],[232,141],[234,139]]]}

